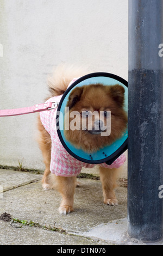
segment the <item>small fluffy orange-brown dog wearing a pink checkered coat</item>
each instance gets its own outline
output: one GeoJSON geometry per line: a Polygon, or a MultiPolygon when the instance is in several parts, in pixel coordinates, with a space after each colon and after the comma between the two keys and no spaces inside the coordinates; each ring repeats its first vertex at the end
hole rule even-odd
{"type": "MultiPolygon", "coordinates": [[[[46,101],[59,101],[72,81],[85,74],[85,71],[74,68],[74,66],[59,66],[48,79],[50,95],[46,101]]],[[[70,93],[66,105],[68,108],[65,114],[65,125],[68,125],[68,129],[64,130],[66,139],[74,147],[81,148],[87,153],[98,151],[106,145],[112,144],[122,136],[127,128],[127,114],[123,105],[124,88],[119,84],[105,86],[98,83],[75,87],[70,93]],[[77,113],[76,129],[71,129],[74,111],[77,113]],[[94,112],[95,114],[92,115],[94,112]],[[103,120],[98,115],[101,112],[103,120]],[[90,115],[91,118],[89,118],[90,115]],[[107,131],[109,130],[107,129],[109,118],[111,133],[107,131]],[[104,133],[105,136],[103,136],[104,133]]],[[[60,192],[62,200],[59,213],[66,215],[73,211],[77,175],[82,167],[92,168],[95,164],[83,163],[67,153],[58,138],[56,127],[54,127],[56,126],[56,112],[56,109],[40,112],[38,118],[39,145],[46,166],[42,186],[45,190],[57,189],[60,192]]],[[[121,155],[110,166],[106,163],[98,164],[104,204],[118,204],[114,188],[117,186],[118,168],[124,161],[126,161],[126,157],[121,155]]]]}

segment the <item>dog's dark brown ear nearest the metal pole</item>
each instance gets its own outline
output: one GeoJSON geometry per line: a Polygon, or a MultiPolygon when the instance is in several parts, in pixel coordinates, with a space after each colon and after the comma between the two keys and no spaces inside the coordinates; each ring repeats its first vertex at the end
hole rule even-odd
{"type": "Polygon", "coordinates": [[[115,86],[109,86],[109,95],[114,99],[119,107],[123,107],[124,103],[124,88],[120,84],[115,84],[115,86]]]}

